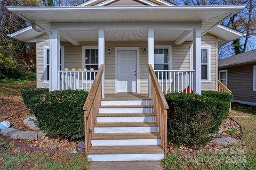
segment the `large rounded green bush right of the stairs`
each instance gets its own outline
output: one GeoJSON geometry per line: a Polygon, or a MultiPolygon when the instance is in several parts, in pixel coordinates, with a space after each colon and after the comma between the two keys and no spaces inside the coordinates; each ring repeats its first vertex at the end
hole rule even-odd
{"type": "Polygon", "coordinates": [[[165,98],[169,104],[167,138],[176,145],[205,145],[229,114],[229,105],[218,97],[174,93],[165,98]]]}

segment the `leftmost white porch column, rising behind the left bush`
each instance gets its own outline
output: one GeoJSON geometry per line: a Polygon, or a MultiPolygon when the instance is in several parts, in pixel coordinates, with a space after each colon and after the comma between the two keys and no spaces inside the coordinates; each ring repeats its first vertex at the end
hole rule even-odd
{"type": "Polygon", "coordinates": [[[51,30],[50,35],[50,91],[58,90],[58,70],[60,63],[60,33],[57,29],[51,30]]]}

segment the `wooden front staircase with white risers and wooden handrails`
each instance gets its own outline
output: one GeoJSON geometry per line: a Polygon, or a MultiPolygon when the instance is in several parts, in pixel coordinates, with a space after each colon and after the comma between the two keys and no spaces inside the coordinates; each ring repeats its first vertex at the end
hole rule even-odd
{"type": "Polygon", "coordinates": [[[166,156],[167,110],[166,103],[155,94],[154,84],[151,83],[154,93],[150,99],[139,94],[117,94],[102,99],[102,72],[103,67],[100,67],[84,105],[88,160],[163,159],[166,156]]]}

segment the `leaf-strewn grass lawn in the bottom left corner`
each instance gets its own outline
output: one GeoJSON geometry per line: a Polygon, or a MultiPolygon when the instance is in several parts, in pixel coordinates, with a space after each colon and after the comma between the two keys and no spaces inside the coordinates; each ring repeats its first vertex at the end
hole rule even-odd
{"type": "Polygon", "coordinates": [[[29,152],[0,139],[0,169],[89,169],[84,155],[63,156],[29,152]]]}

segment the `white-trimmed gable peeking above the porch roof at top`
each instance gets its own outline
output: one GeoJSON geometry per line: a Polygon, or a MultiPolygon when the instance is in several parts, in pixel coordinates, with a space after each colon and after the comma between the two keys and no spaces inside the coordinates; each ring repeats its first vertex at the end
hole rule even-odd
{"type": "Polygon", "coordinates": [[[89,0],[77,6],[175,6],[165,0],[89,0]]]}

